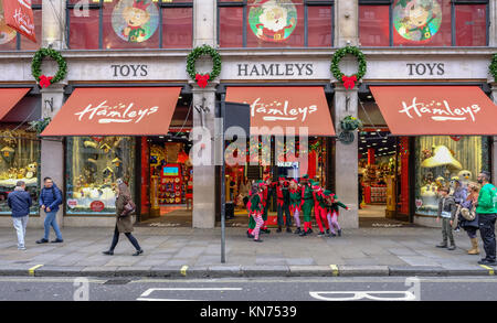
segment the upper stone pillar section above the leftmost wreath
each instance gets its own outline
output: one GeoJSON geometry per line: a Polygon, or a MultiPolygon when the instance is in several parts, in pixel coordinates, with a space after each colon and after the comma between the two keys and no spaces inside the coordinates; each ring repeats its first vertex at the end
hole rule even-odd
{"type": "Polygon", "coordinates": [[[42,46],[66,49],[65,0],[43,0],[42,8],[42,46]]]}

